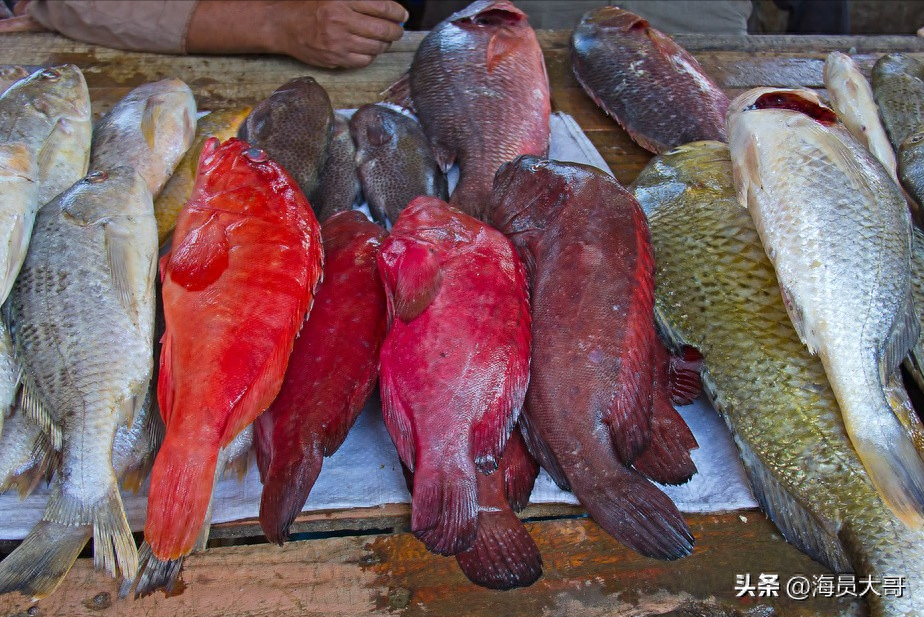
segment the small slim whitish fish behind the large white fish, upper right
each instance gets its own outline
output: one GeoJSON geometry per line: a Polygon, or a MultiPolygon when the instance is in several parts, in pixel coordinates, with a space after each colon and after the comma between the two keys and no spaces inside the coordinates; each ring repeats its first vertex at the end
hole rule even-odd
{"type": "Polygon", "coordinates": [[[898,182],[895,151],[879,120],[873,90],[857,63],[845,53],[831,52],[825,59],[824,82],[837,117],[898,182]]]}

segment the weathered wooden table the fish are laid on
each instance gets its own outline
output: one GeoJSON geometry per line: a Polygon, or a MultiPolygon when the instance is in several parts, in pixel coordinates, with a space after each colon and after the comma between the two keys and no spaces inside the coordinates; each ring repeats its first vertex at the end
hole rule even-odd
{"type": "MultiPolygon", "coordinates": [[[[171,57],[120,52],[51,34],[0,37],[0,66],[72,62],[83,69],[94,112],[101,114],[135,86],[178,77],[192,87],[200,109],[254,104],[285,81],[309,74],[335,107],[358,107],[410,65],[421,33],[408,33],[370,67],[350,72],[310,69],[286,58],[171,57]]],[[[552,86],[552,107],[578,121],[623,183],[650,158],[583,93],[571,75],[567,32],[540,32],[552,86]]],[[[755,86],[822,89],[825,55],[851,53],[864,71],[882,53],[913,52],[915,37],[720,37],[676,40],[734,96],[755,86]]],[[[864,614],[859,601],[786,597],[737,598],[735,577],[760,573],[780,581],[827,573],[782,540],[756,511],[688,516],[696,537],[693,555],[659,562],[636,555],[570,506],[530,506],[522,513],[544,559],[532,587],[491,592],[469,583],[455,561],[427,553],[408,534],[407,505],[302,515],[293,531],[304,539],[283,548],[262,542],[255,521],[217,525],[213,548],[186,561],[183,585],[173,597],[155,594],[119,600],[117,584],[81,558],[62,587],[33,605],[0,597],[0,615],[530,615],[580,614],[642,617],[864,614]]],[[[0,547],[2,548],[2,547],[0,547]]],[[[10,545],[6,543],[5,549],[10,545]]]]}

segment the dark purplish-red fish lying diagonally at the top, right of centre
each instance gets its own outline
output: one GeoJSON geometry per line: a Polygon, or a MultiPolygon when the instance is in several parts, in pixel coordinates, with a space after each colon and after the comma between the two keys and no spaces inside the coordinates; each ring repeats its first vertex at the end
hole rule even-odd
{"type": "Polygon", "coordinates": [[[642,148],[657,154],[698,139],[725,141],[728,97],[642,17],[615,6],[588,12],[570,49],[578,83],[642,148]]]}

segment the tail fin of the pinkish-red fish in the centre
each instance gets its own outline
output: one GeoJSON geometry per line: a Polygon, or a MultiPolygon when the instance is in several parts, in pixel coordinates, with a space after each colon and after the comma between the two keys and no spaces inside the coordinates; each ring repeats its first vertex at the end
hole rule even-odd
{"type": "Polygon", "coordinates": [[[468,460],[418,460],[411,496],[411,531],[439,555],[455,555],[475,543],[478,471],[468,460]]]}

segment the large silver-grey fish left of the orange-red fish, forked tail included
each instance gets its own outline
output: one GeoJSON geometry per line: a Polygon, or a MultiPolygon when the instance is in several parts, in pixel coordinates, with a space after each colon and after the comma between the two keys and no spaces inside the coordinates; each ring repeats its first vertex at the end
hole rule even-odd
{"type": "Polygon", "coordinates": [[[137,568],[112,445],[151,379],[156,265],[151,194],[131,167],[91,172],[39,212],[10,332],[20,408],[61,459],[41,521],[0,562],[0,593],[48,595],[91,536],[98,568],[137,568]]]}

